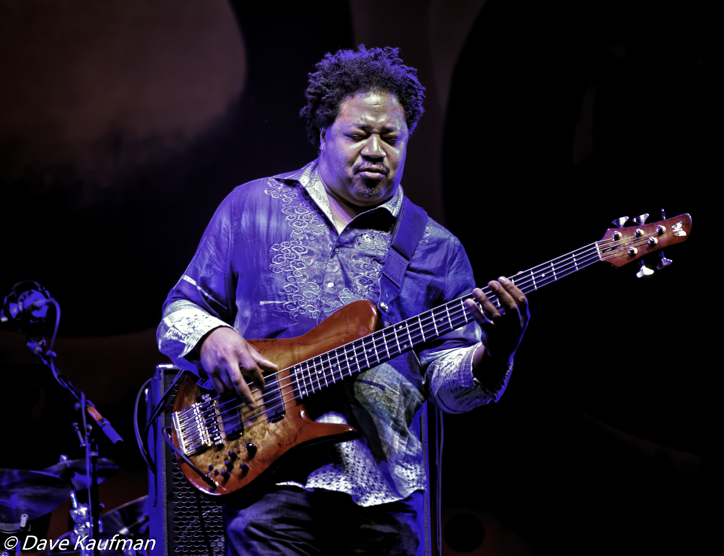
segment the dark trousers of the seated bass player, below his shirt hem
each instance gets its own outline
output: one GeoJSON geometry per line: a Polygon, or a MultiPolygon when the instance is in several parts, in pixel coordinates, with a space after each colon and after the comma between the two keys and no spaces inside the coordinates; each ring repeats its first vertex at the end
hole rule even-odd
{"type": "Polygon", "coordinates": [[[425,552],[424,495],[362,508],[343,492],[275,487],[250,505],[224,505],[226,554],[405,555],[425,552]]]}

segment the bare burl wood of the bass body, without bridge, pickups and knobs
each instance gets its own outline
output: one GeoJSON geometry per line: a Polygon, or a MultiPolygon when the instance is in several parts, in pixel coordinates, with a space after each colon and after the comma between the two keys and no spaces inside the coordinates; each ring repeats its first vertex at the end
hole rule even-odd
{"type": "MultiPolygon", "coordinates": [[[[279,463],[279,458],[286,456],[294,448],[321,441],[340,442],[357,436],[355,429],[348,425],[317,423],[310,419],[306,415],[304,404],[291,393],[291,380],[288,378],[285,380],[285,377],[289,376],[288,369],[292,365],[362,338],[374,332],[376,324],[377,310],[374,304],[370,301],[354,301],[297,338],[247,340],[267,359],[279,365],[279,369],[285,369],[279,373],[282,394],[286,394],[284,395],[285,417],[276,423],[269,423],[262,413],[258,422],[253,424],[245,422],[244,434],[237,440],[229,440],[222,446],[211,447],[206,452],[189,458],[202,471],[206,471],[210,465],[222,471],[225,469],[224,459],[228,459],[229,450],[234,450],[239,455],[228,480],[224,480],[221,474],[216,476],[211,474],[219,484],[213,492],[209,491],[209,485],[203,482],[195,471],[177,458],[186,479],[206,494],[216,496],[230,494],[253,482],[264,471],[274,468],[279,463]],[[257,452],[253,457],[250,457],[246,450],[249,442],[257,446],[257,452]],[[241,462],[249,466],[245,474],[240,471],[241,462]]],[[[194,380],[188,378],[183,380],[174,400],[174,411],[180,411],[196,403],[196,398],[203,393],[206,393],[206,390],[199,388],[194,380]]],[[[242,406],[240,411],[245,410],[246,406],[242,406]]],[[[178,448],[175,430],[173,436],[174,444],[178,448]]],[[[289,457],[294,456],[289,455],[289,457]]]]}

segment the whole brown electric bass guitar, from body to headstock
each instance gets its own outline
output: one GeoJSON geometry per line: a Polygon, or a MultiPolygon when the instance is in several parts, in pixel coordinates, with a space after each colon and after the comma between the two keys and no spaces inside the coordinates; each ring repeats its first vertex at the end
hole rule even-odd
{"type": "MultiPolygon", "coordinates": [[[[637,226],[630,227],[623,227],[628,218],[620,218],[614,221],[618,228],[610,228],[599,241],[512,279],[529,294],[594,262],[627,265],[686,241],[691,231],[688,214],[645,224],[647,217],[635,218],[637,226]]],[[[661,252],[657,268],[669,264],[661,252]]],[[[639,277],[653,272],[641,261],[639,277]]],[[[483,291],[500,307],[489,288],[483,291]]],[[[354,438],[353,427],[310,419],[304,399],[471,322],[464,304],[471,297],[453,299],[382,330],[374,303],[354,301],[298,338],[247,340],[282,369],[265,377],[264,392],[252,390],[258,400],[256,409],[235,396],[202,390],[194,380],[184,378],[174,399],[170,431],[182,473],[201,492],[226,495],[254,482],[297,448],[354,438]]]]}

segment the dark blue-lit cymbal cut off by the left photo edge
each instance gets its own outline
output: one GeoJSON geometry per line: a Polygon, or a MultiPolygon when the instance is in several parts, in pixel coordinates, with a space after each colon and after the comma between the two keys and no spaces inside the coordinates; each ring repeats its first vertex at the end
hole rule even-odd
{"type": "Polygon", "coordinates": [[[0,523],[18,524],[20,516],[39,518],[53,511],[70,498],[70,486],[42,471],[0,469],[0,523]]]}

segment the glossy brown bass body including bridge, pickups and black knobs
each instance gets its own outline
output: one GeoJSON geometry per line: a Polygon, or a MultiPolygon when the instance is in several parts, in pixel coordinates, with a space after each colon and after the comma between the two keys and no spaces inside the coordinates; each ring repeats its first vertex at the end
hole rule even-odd
{"type": "Polygon", "coordinates": [[[186,479],[209,495],[227,495],[274,469],[297,448],[358,437],[348,425],[310,419],[290,369],[374,332],[377,320],[373,303],[355,301],[297,338],[247,340],[282,369],[271,380],[266,377],[263,403],[257,401],[254,410],[235,396],[214,398],[193,377],[182,380],[173,406],[173,442],[208,473],[205,482],[177,457],[186,479]]]}

